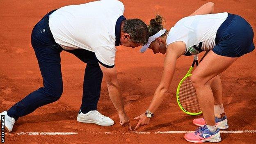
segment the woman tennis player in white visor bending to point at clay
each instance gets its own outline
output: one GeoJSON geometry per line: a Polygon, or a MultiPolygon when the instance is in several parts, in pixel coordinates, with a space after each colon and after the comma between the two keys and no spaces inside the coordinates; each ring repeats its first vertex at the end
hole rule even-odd
{"type": "Polygon", "coordinates": [[[149,41],[142,47],[156,53],[165,54],[164,71],[161,82],[155,90],[153,100],[141,114],[135,130],[149,123],[153,112],[162,103],[174,75],[176,61],[181,55],[197,55],[201,51],[210,52],[194,70],[191,77],[204,119],[194,119],[197,126],[194,133],[185,134],[189,142],[219,142],[219,129],[228,128],[222,104],[222,87],[219,74],[225,71],[236,59],[254,50],[254,33],[242,17],[229,13],[212,14],[214,4],[209,2],[188,17],[182,18],[168,32],[162,18],[151,19],[149,41]]]}

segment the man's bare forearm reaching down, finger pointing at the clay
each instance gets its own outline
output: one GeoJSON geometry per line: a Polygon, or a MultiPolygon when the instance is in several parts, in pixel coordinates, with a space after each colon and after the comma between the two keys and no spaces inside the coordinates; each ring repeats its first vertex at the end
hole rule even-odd
{"type": "Polygon", "coordinates": [[[128,124],[129,129],[132,130],[130,126],[129,118],[127,117],[125,111],[124,111],[124,104],[123,104],[123,98],[121,95],[121,87],[119,85],[119,82],[117,80],[117,72],[115,67],[114,68],[106,68],[103,65],[99,63],[101,67],[101,71],[103,72],[103,76],[105,78],[105,81],[107,83],[107,89],[110,96],[110,99],[112,103],[114,104],[114,107],[117,109],[119,118],[120,118],[120,124],[122,126],[126,126],[128,124]]]}

